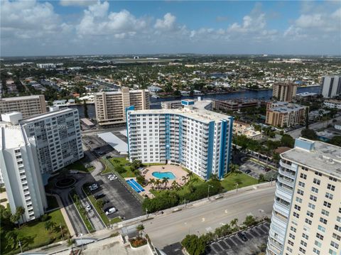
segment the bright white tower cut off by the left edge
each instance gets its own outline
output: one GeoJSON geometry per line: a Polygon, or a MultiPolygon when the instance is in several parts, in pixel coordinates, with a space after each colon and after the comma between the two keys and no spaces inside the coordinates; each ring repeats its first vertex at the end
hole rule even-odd
{"type": "Polygon", "coordinates": [[[23,207],[23,222],[27,222],[43,215],[48,207],[36,139],[26,136],[20,126],[0,126],[0,170],[9,205],[13,214],[23,207]]]}

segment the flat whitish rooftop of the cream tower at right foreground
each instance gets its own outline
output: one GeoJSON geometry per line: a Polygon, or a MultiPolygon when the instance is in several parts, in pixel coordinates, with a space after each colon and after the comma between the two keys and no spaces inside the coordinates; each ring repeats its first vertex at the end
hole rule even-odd
{"type": "Polygon", "coordinates": [[[302,138],[296,139],[297,141],[310,143],[313,146],[310,147],[310,151],[296,146],[282,153],[283,158],[341,179],[341,147],[302,138]]]}

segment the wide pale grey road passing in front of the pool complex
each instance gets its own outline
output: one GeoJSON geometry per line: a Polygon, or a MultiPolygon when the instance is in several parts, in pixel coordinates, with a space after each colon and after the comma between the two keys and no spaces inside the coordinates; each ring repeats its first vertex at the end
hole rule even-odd
{"type": "Polygon", "coordinates": [[[247,215],[271,216],[275,185],[242,192],[220,200],[212,200],[179,212],[155,217],[144,222],[145,232],[158,249],[180,242],[186,234],[213,232],[222,224],[237,218],[243,222],[247,215]]]}

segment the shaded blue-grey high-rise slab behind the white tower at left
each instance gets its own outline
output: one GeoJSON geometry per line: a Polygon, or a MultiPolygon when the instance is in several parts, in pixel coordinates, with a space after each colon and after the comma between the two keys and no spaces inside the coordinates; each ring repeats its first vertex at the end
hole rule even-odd
{"type": "Polygon", "coordinates": [[[26,136],[36,139],[41,173],[50,173],[83,155],[77,109],[60,109],[20,121],[26,136]]]}

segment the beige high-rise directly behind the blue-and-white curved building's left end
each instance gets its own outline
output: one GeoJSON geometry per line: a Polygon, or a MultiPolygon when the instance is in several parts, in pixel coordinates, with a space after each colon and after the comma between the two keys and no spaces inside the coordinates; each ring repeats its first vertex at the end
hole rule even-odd
{"type": "Polygon", "coordinates": [[[126,107],[149,109],[148,90],[131,90],[123,87],[119,92],[99,92],[95,94],[94,105],[99,125],[121,124],[126,122],[126,107]]]}

